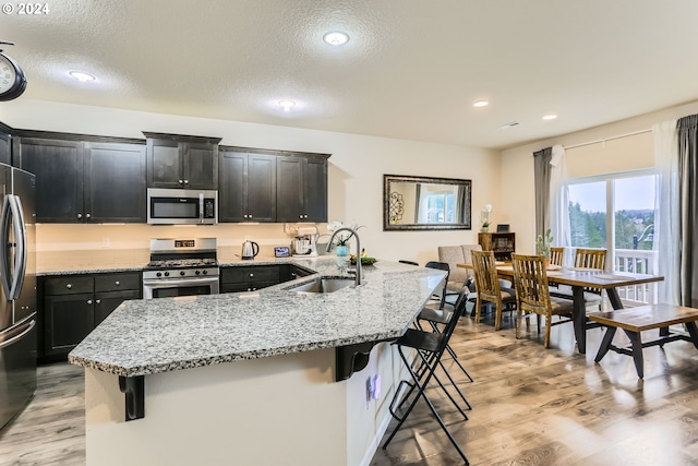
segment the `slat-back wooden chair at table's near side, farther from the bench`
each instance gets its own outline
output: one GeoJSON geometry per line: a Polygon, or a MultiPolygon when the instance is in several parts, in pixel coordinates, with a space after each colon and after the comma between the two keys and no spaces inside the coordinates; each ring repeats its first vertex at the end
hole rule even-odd
{"type": "Polygon", "coordinates": [[[506,306],[514,310],[516,292],[512,288],[502,288],[493,251],[471,251],[472,270],[476,275],[476,322],[480,322],[480,311],[484,302],[492,302],[494,310],[494,330],[502,325],[502,312],[506,306]]]}

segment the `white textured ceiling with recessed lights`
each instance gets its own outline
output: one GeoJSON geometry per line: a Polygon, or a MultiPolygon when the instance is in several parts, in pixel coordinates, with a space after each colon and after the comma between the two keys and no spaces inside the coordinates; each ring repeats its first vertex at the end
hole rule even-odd
{"type": "Polygon", "coordinates": [[[29,80],[20,98],[493,148],[698,99],[696,0],[48,7],[0,16],[29,80]],[[350,35],[341,48],[322,41],[336,29],[350,35]],[[473,108],[480,98],[491,105],[473,108]],[[542,121],[549,112],[559,118],[542,121]]]}

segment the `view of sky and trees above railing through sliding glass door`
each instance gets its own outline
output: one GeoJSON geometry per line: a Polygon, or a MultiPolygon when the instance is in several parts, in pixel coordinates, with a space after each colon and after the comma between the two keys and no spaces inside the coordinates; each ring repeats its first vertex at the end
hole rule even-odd
{"type": "Polygon", "coordinates": [[[653,175],[615,177],[569,184],[571,246],[651,250],[654,229],[653,175]],[[607,206],[613,208],[615,238],[610,238],[607,206]]]}

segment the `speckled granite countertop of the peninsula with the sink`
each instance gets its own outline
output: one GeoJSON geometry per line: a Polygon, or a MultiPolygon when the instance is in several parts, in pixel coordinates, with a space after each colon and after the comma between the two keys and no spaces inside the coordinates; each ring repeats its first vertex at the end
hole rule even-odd
{"type": "Polygon", "coordinates": [[[445,277],[396,262],[364,266],[364,285],[328,294],[289,291],[320,276],[348,276],[334,256],[296,263],[313,275],[253,292],[124,301],[69,355],[69,362],[135,377],[234,360],[395,338],[445,277]]]}

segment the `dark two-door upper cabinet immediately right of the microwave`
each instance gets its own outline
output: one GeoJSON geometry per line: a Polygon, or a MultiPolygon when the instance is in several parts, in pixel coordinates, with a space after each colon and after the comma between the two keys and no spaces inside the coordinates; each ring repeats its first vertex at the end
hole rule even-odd
{"type": "Polygon", "coordinates": [[[276,222],[276,157],[250,151],[220,148],[220,222],[276,222]]]}

